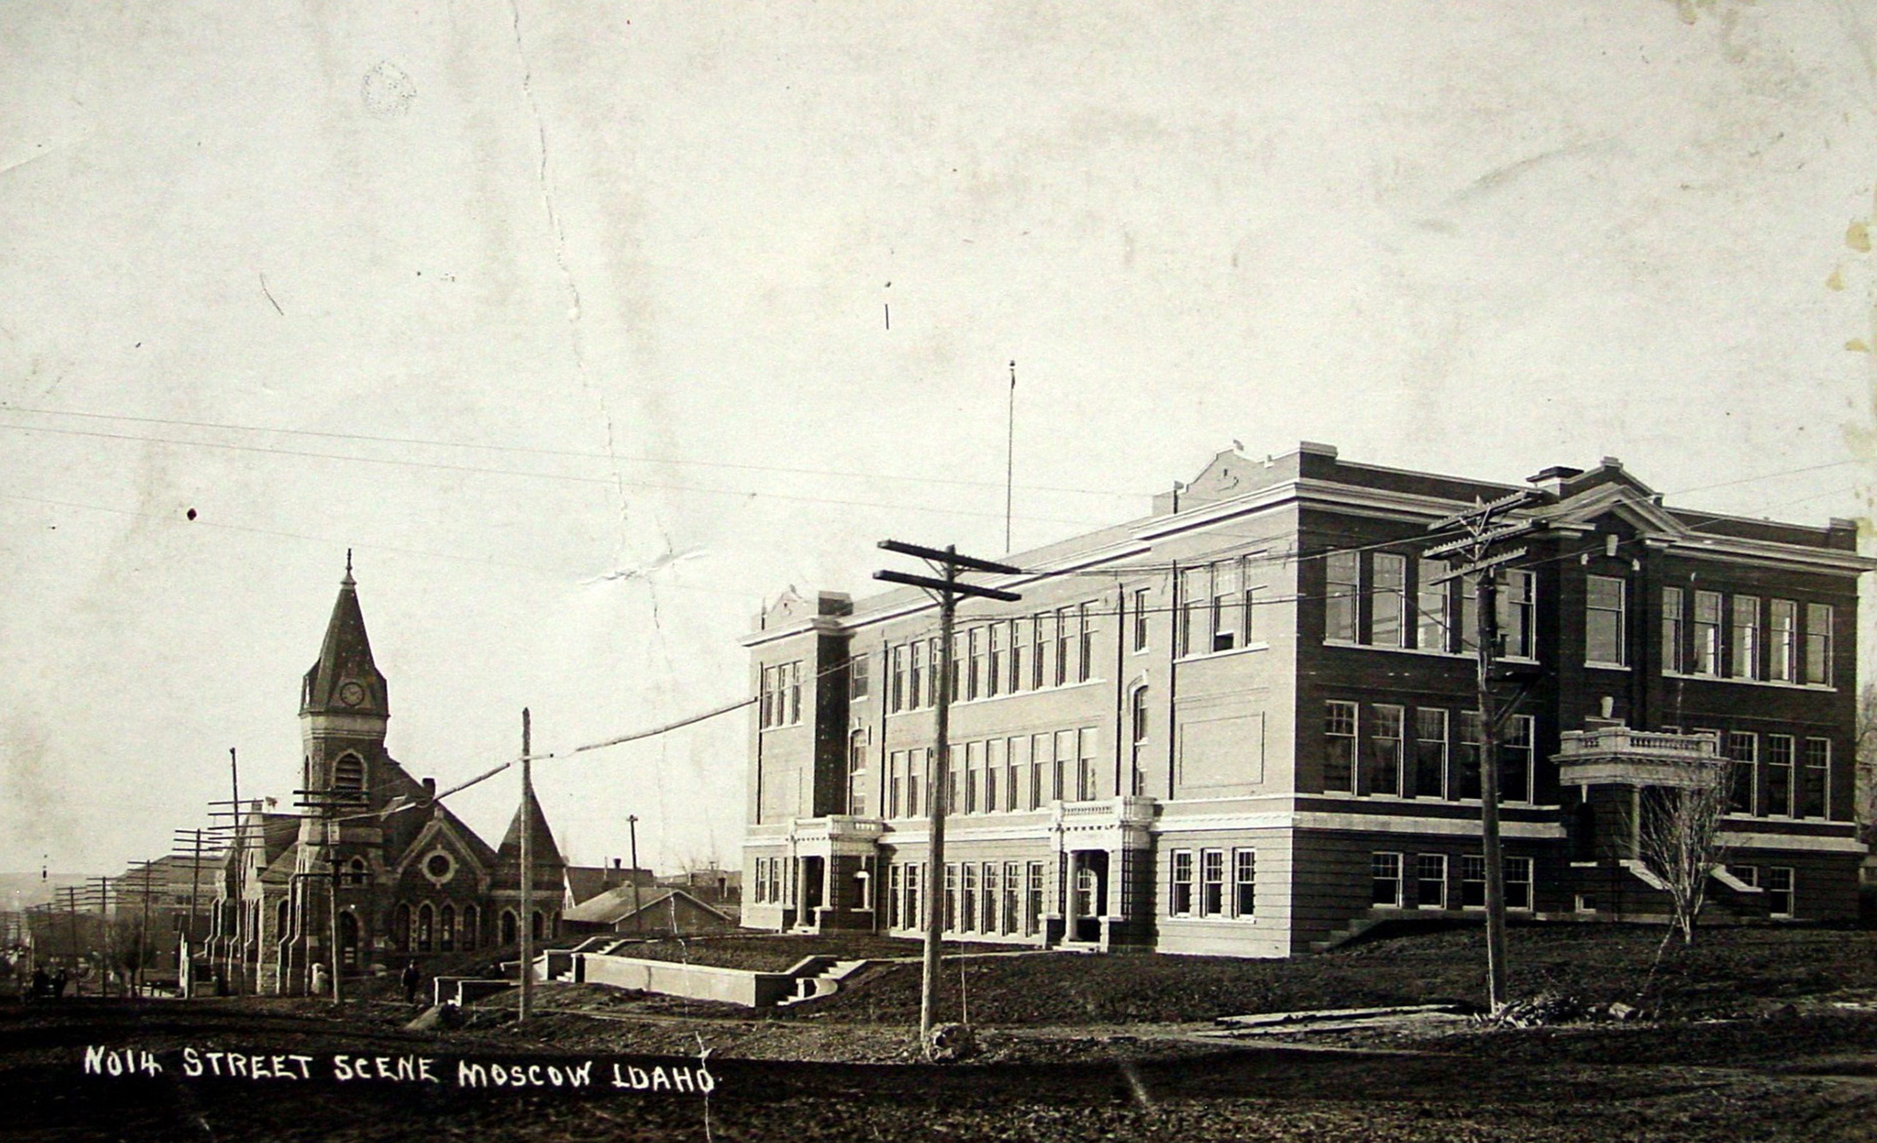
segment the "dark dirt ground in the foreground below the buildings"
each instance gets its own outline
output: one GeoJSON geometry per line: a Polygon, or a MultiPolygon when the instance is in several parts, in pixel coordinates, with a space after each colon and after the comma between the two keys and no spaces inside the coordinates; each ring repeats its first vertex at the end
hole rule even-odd
{"type": "Polygon", "coordinates": [[[1211,1038],[1209,1017],[1293,998],[1466,998],[1477,933],[1288,963],[963,961],[982,1051],[957,1064],[914,1051],[897,968],[818,1015],[546,985],[526,1025],[497,998],[430,1032],[405,1030],[411,1012],[392,1002],[13,1004],[0,1006],[0,1137],[1877,1139],[1871,935],[1734,931],[1676,957],[1640,1015],[1595,1010],[1635,998],[1646,957],[1631,957],[1652,937],[1518,931],[1520,991],[1569,1000],[1539,1027],[1428,1017],[1256,1040],[1211,1038]],[[86,1075],[88,1045],[150,1051],[165,1070],[86,1075]],[[711,1092],[186,1077],[182,1047],[300,1053],[315,1070],[334,1053],[432,1057],[445,1077],[458,1059],[537,1072],[589,1060],[599,1075],[708,1060],[711,1092]]]}

